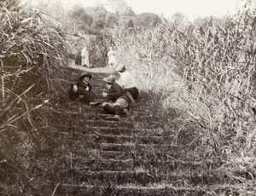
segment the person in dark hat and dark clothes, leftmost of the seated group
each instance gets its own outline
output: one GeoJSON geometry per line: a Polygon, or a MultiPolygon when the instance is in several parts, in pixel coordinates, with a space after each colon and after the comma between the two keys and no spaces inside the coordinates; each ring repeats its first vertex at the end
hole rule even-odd
{"type": "Polygon", "coordinates": [[[71,101],[81,97],[82,101],[86,104],[90,104],[93,101],[94,95],[91,92],[92,86],[90,84],[91,75],[87,72],[83,72],[81,76],[70,84],[71,88],[68,91],[69,99],[71,101]]]}

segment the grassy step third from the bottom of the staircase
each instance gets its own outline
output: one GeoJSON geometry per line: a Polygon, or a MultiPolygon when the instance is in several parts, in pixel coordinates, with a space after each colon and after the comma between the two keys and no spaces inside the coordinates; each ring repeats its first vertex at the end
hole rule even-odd
{"type": "MultiPolygon", "coordinates": [[[[67,157],[66,161],[70,161],[67,157]]],[[[177,170],[183,173],[191,173],[195,170],[212,170],[217,169],[219,163],[213,163],[212,160],[207,161],[183,161],[172,159],[169,161],[160,161],[159,159],[103,159],[103,160],[86,160],[86,159],[72,159],[74,170],[138,170],[140,168],[149,168],[150,170],[162,171],[177,170]],[[212,166],[213,165],[213,166],[212,166]],[[215,166],[214,166],[215,165],[215,166]]],[[[69,170],[69,169],[68,169],[69,170]]]]}

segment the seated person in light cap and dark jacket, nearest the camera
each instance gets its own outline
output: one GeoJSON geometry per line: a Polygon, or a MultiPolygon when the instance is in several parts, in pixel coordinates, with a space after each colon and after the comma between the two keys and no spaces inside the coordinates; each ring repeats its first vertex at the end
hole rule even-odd
{"type": "Polygon", "coordinates": [[[102,96],[108,101],[103,102],[102,107],[107,113],[114,114],[113,117],[108,117],[107,119],[119,120],[123,112],[128,115],[129,96],[123,94],[123,89],[119,84],[115,83],[113,75],[110,75],[108,78],[103,78],[103,80],[107,84],[108,92],[103,92],[102,96]]]}

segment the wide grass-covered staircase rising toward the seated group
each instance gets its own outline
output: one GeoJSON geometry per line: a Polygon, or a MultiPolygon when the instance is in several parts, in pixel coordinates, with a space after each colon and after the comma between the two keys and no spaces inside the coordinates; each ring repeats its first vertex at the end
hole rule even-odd
{"type": "MultiPolygon", "coordinates": [[[[106,76],[93,73],[98,100],[106,76]]],[[[101,106],[73,102],[59,107],[62,129],[49,135],[61,138],[55,152],[62,163],[61,182],[55,195],[207,195],[230,190],[218,177],[218,164],[192,159],[189,147],[175,144],[176,131],[161,129],[158,117],[140,101],[131,108],[133,121],[125,116],[108,121],[101,106]]]]}

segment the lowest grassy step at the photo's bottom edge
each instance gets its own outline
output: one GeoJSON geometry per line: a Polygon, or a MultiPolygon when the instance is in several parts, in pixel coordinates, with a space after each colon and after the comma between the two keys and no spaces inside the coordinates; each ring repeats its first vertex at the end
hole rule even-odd
{"type": "Polygon", "coordinates": [[[215,184],[207,186],[175,186],[165,183],[154,183],[150,186],[136,184],[125,185],[89,185],[89,184],[62,184],[62,195],[116,195],[116,196],[163,196],[163,195],[189,195],[199,196],[208,193],[236,193],[239,187],[232,184],[215,184]]]}

